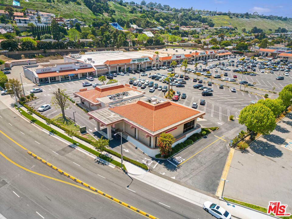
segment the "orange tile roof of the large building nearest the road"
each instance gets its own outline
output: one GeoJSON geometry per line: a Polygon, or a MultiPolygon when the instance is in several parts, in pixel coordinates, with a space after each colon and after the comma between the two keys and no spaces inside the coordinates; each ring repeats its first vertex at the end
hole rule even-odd
{"type": "Polygon", "coordinates": [[[200,113],[195,109],[171,101],[152,105],[141,100],[123,106],[116,106],[109,110],[153,132],[200,113]],[[165,115],[171,119],[166,119],[165,115]]]}

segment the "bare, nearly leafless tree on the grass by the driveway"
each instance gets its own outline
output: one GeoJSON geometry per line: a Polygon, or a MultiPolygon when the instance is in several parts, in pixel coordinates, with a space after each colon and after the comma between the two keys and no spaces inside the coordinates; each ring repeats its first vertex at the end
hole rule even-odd
{"type": "Polygon", "coordinates": [[[70,103],[68,101],[69,96],[65,93],[66,89],[58,89],[58,91],[53,92],[53,97],[51,103],[53,106],[60,108],[62,111],[62,117],[66,119],[65,109],[70,108],[70,103]]]}

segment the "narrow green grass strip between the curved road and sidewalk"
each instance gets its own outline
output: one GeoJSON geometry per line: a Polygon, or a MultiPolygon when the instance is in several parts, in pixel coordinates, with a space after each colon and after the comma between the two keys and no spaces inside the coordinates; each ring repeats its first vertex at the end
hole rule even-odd
{"type": "MultiPolygon", "coordinates": [[[[16,107],[15,107],[15,109],[17,110],[16,107]]],[[[63,138],[64,140],[69,141],[69,142],[72,143],[72,144],[75,144],[75,143],[76,143],[75,141],[73,142],[72,138],[70,138],[70,137],[68,137],[68,136],[66,136],[66,135],[64,135],[64,134],[62,134],[62,133],[60,133],[60,132],[58,132],[57,130],[52,129],[50,126],[48,126],[48,125],[42,123],[40,120],[37,120],[37,119],[34,118],[33,116],[31,116],[31,115],[29,115],[28,113],[26,113],[24,110],[21,110],[20,113],[21,113],[21,115],[23,115],[24,117],[26,117],[27,119],[29,119],[29,120],[30,120],[31,122],[33,122],[34,124],[36,124],[36,125],[42,127],[43,129],[45,129],[45,130],[47,130],[47,131],[50,131],[50,132],[53,133],[54,135],[57,135],[57,136],[63,138]]],[[[110,157],[108,157],[108,156],[106,156],[106,155],[102,155],[101,153],[99,153],[99,152],[97,152],[97,151],[95,151],[95,150],[93,150],[93,149],[91,149],[91,148],[89,148],[89,147],[87,147],[87,146],[85,146],[85,145],[79,143],[79,142],[78,142],[78,147],[84,149],[85,151],[88,151],[89,153],[92,153],[92,154],[95,155],[96,157],[99,157],[99,158],[101,158],[101,159],[103,159],[103,160],[105,160],[105,161],[107,161],[107,162],[109,162],[109,163],[111,163],[111,164],[113,164],[113,165],[116,165],[116,166],[118,166],[118,167],[121,166],[121,163],[120,163],[120,162],[117,162],[117,161],[113,160],[112,158],[110,158],[110,157]]],[[[126,170],[125,165],[123,165],[123,169],[126,170]]]]}

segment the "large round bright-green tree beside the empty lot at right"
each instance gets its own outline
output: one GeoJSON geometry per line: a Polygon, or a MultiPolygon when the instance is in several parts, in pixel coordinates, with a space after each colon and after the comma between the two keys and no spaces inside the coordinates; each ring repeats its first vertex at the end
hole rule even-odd
{"type": "Polygon", "coordinates": [[[252,131],[251,138],[253,133],[270,134],[276,127],[272,110],[261,103],[245,106],[240,112],[238,123],[252,131]]]}

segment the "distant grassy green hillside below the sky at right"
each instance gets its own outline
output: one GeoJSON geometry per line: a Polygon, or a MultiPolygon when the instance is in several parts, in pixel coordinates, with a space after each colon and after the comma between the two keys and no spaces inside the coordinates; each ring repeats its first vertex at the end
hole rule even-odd
{"type": "Polygon", "coordinates": [[[213,16],[209,17],[215,23],[215,27],[220,26],[228,26],[231,25],[233,27],[237,27],[238,30],[245,28],[246,30],[251,30],[254,26],[263,29],[264,31],[272,29],[286,28],[292,30],[292,23],[289,21],[281,21],[278,19],[269,20],[269,19],[262,19],[262,18],[229,18],[229,16],[213,16]]]}

